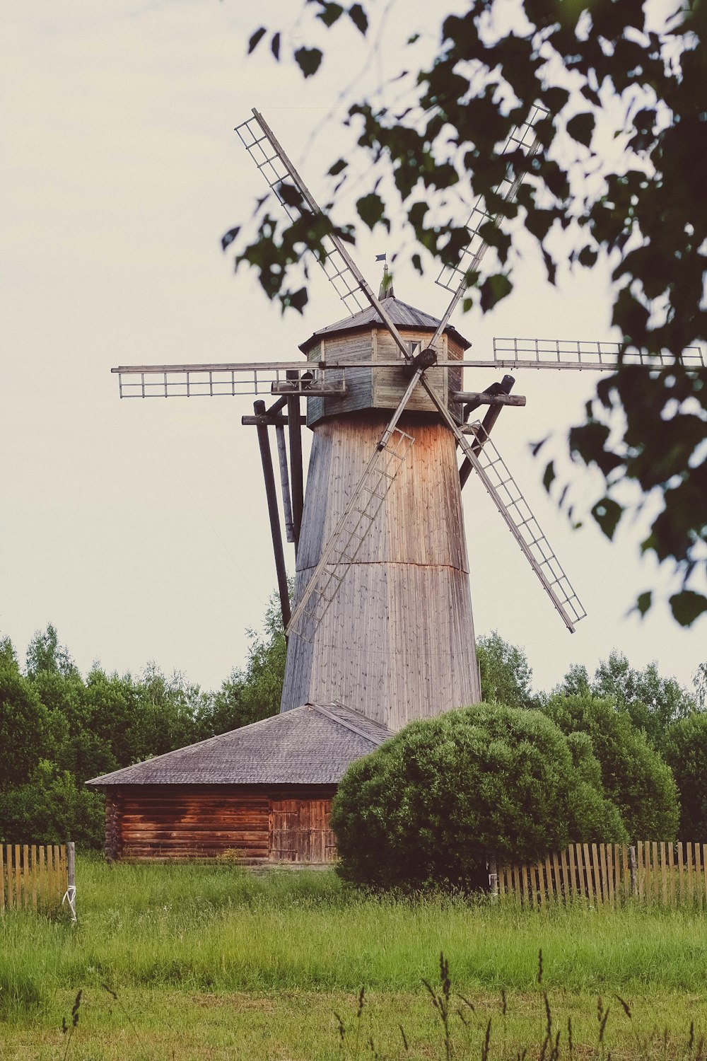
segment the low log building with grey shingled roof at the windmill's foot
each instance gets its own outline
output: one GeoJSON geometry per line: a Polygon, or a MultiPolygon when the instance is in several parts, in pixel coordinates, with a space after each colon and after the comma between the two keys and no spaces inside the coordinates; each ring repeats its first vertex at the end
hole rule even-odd
{"type": "Polygon", "coordinates": [[[332,798],[392,733],[340,703],[307,703],[87,782],[106,797],[106,857],[334,862],[332,798]]]}

